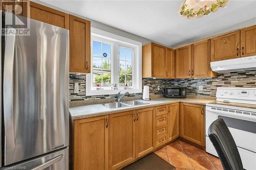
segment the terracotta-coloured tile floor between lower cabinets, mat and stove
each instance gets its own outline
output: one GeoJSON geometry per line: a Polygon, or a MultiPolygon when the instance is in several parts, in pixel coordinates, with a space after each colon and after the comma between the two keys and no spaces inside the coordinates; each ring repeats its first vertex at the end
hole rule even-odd
{"type": "Polygon", "coordinates": [[[179,139],[159,149],[155,154],[175,166],[177,170],[223,169],[218,157],[179,139]]]}

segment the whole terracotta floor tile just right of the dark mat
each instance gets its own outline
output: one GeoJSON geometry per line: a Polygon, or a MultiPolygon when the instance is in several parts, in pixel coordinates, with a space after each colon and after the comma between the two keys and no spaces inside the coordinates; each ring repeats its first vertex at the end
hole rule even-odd
{"type": "Polygon", "coordinates": [[[171,154],[171,153],[167,153],[167,155],[168,155],[170,164],[172,164],[173,166],[193,169],[193,166],[191,165],[186,155],[171,154]]]}

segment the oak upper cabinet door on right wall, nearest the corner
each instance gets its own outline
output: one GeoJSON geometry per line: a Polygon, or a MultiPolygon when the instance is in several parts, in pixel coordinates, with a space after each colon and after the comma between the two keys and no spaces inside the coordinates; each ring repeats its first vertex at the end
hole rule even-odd
{"type": "Polygon", "coordinates": [[[176,50],[176,78],[191,77],[191,45],[176,50]]]}

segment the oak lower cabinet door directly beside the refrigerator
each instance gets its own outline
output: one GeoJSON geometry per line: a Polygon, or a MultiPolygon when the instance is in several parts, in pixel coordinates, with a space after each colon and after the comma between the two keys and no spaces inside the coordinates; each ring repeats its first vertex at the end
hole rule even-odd
{"type": "Polygon", "coordinates": [[[108,117],[74,120],[74,169],[108,169],[108,117]]]}

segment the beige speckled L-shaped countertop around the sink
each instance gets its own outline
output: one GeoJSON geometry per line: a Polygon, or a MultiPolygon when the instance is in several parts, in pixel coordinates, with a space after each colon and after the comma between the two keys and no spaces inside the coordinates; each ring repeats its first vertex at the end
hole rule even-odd
{"type": "Polygon", "coordinates": [[[143,108],[178,103],[178,102],[199,104],[199,105],[205,105],[206,103],[215,102],[214,99],[193,99],[193,98],[186,98],[186,99],[156,98],[156,99],[152,99],[151,101],[143,101],[143,100],[138,100],[138,101],[148,103],[148,104],[140,105],[140,106],[115,108],[115,109],[105,107],[101,104],[95,104],[95,105],[70,107],[69,111],[70,111],[71,118],[75,120],[80,118],[101,116],[106,114],[113,114],[118,112],[143,109],[143,108]]]}

